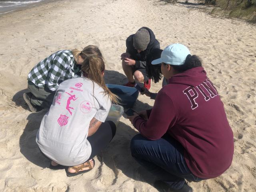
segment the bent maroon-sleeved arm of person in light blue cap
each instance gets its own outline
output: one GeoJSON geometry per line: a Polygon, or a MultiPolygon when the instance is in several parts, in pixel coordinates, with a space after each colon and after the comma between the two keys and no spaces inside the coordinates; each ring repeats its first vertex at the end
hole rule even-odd
{"type": "Polygon", "coordinates": [[[132,124],[144,137],[156,140],[161,138],[168,128],[175,124],[176,120],[176,109],[171,98],[165,92],[160,91],[148,120],[136,116],[133,118],[132,124]]]}

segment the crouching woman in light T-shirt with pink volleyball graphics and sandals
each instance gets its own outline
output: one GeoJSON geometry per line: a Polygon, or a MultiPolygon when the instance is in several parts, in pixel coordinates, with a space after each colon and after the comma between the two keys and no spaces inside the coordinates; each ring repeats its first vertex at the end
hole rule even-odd
{"type": "Polygon", "coordinates": [[[82,77],[60,83],[36,135],[40,150],[52,160],[50,168],[69,166],[68,176],[91,170],[93,157],[115,135],[115,124],[105,120],[117,96],[106,87],[104,70],[102,57],[86,58],[82,77]]]}

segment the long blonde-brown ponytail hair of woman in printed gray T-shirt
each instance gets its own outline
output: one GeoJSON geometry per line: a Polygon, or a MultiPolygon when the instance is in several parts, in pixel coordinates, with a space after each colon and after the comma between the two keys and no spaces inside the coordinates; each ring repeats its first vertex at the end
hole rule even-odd
{"type": "MultiPolygon", "coordinates": [[[[105,63],[103,57],[100,56],[88,56],[85,58],[81,67],[82,73],[84,77],[89,78],[92,82],[96,82],[99,84],[103,90],[104,95],[108,95],[111,102],[118,104],[118,96],[113,94],[105,84],[102,73],[105,70],[105,63]]],[[[93,84],[93,92],[94,92],[94,84],[93,84]]]]}

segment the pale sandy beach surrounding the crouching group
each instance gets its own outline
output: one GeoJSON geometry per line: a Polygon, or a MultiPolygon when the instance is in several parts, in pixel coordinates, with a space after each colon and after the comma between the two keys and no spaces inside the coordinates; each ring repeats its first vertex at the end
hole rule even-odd
{"type": "MultiPolygon", "coordinates": [[[[124,84],[120,54],[142,26],[161,48],[182,43],[200,56],[216,85],[234,132],[234,157],[218,178],[189,185],[195,192],[256,191],[256,26],[202,12],[196,1],[175,5],[158,0],[62,0],[0,16],[0,191],[157,192],[154,177],[130,155],[138,134],[120,118],[117,133],[95,160],[95,168],[69,178],[50,170],[35,136],[46,110],[30,112],[22,98],[32,67],[53,52],[99,46],[107,64],[106,83],[124,84]],[[199,9],[198,9],[199,8],[199,9]]],[[[162,82],[152,84],[152,92],[162,82]]],[[[140,95],[134,110],[151,108],[140,95]]]]}

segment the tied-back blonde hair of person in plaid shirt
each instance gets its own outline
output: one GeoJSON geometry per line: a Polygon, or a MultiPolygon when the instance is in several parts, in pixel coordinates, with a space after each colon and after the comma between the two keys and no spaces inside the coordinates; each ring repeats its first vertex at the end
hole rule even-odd
{"type": "Polygon", "coordinates": [[[102,57],[102,53],[100,52],[99,48],[94,45],[86,46],[82,51],[78,49],[73,49],[72,54],[76,62],[78,62],[78,56],[80,55],[83,59],[86,59],[89,56],[97,56],[102,57]]]}

